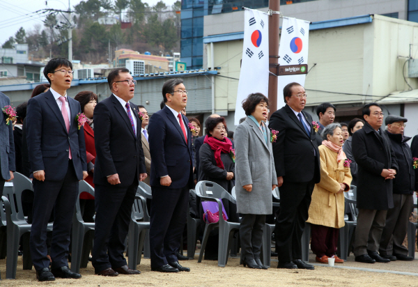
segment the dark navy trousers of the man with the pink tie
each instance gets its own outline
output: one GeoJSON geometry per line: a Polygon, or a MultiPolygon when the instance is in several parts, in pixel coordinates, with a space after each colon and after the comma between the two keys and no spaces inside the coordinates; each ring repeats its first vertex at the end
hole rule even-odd
{"type": "Polygon", "coordinates": [[[78,196],[79,180],[72,160],[68,160],[68,170],[63,180],[40,181],[33,178],[33,219],[31,228],[31,256],[36,270],[49,267],[47,258],[47,224],[54,208],[54,230],[50,256],[52,268],[68,266],[68,245],[72,215],[78,196]]]}

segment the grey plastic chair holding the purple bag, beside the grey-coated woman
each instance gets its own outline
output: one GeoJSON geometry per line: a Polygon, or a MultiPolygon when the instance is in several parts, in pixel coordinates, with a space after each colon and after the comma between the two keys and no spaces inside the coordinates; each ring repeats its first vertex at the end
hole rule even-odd
{"type": "Polygon", "coordinates": [[[226,192],[217,183],[201,180],[196,185],[196,195],[201,198],[201,201],[215,201],[219,208],[219,222],[209,223],[205,226],[205,232],[203,233],[203,242],[201,245],[201,252],[199,254],[198,263],[201,263],[203,258],[203,252],[208,242],[210,231],[214,228],[219,228],[219,247],[218,247],[218,266],[225,267],[228,262],[228,254],[231,249],[231,241],[233,237],[233,231],[240,229],[240,224],[235,222],[226,222],[222,216],[222,201],[220,199],[228,199],[232,203],[236,204],[235,199],[226,192]]]}

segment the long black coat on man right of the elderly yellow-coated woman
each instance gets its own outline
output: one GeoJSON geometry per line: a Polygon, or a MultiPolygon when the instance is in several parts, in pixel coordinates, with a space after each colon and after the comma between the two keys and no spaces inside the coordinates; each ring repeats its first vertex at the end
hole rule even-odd
{"type": "Polygon", "coordinates": [[[394,207],[392,196],[393,180],[380,176],[383,169],[398,170],[392,144],[379,129],[377,134],[369,123],[353,134],[353,156],[357,162],[357,208],[388,210],[394,207]]]}

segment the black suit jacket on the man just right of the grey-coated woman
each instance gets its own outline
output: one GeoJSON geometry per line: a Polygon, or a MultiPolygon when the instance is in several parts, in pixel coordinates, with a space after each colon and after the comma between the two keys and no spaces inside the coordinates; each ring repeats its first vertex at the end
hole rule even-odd
{"type": "Polygon", "coordinates": [[[302,111],[311,127],[311,134],[305,132],[299,118],[286,106],[274,111],[270,118],[270,130],[277,130],[277,140],[273,143],[274,165],[277,176],[291,183],[307,183],[314,179],[320,182],[320,159],[316,132],[312,117],[302,111]]]}

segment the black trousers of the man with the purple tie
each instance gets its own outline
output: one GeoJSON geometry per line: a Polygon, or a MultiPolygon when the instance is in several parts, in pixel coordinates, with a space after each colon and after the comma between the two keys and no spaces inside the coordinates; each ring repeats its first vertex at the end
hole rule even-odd
{"type": "Polygon", "coordinates": [[[127,265],[123,251],[137,188],[137,178],[128,187],[95,185],[96,217],[91,263],[96,273],[127,265]]]}

